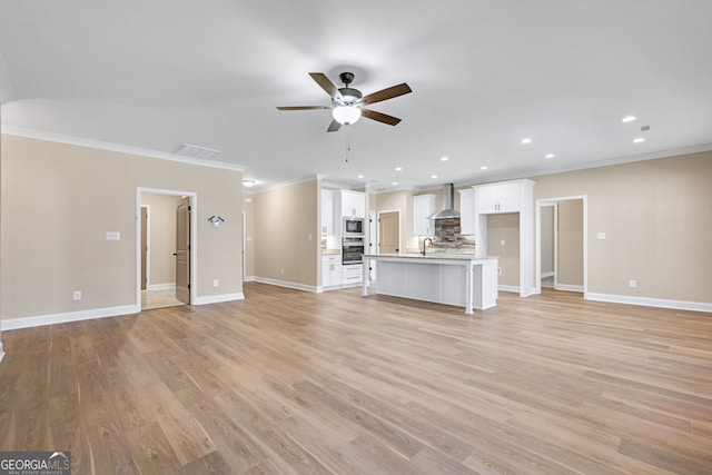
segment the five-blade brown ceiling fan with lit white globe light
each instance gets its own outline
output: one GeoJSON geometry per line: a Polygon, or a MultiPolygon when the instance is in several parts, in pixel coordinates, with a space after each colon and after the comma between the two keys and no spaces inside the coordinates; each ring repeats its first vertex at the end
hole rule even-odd
{"type": "Polygon", "coordinates": [[[407,95],[412,92],[412,89],[405,82],[398,86],[392,86],[386,89],[382,89],[377,92],[363,96],[358,89],[349,87],[354,81],[353,72],[342,72],[338,75],[343,88],[337,88],[334,82],[322,72],[309,72],[312,79],[322,87],[332,97],[332,106],[287,106],[277,107],[279,110],[314,110],[314,109],[332,109],[332,123],[326,129],[327,132],[335,132],[343,125],[352,125],[356,122],[360,116],[367,117],[373,120],[377,120],[389,126],[397,125],[400,119],[397,117],[388,116],[383,112],[376,112],[375,110],[365,109],[364,106],[369,103],[380,102],[382,100],[393,99],[394,97],[407,95]]]}

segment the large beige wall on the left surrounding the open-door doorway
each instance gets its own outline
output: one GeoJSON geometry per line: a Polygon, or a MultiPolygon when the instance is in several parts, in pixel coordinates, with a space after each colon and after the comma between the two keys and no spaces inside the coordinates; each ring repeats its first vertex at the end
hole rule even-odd
{"type": "Polygon", "coordinates": [[[197,194],[197,296],[243,291],[241,172],[7,135],[1,167],[3,319],[136,305],[139,187],[197,194]]]}

